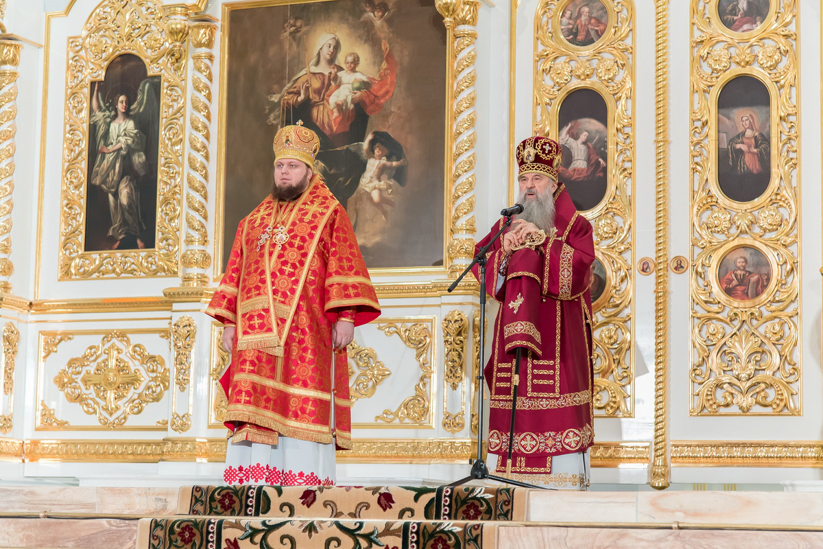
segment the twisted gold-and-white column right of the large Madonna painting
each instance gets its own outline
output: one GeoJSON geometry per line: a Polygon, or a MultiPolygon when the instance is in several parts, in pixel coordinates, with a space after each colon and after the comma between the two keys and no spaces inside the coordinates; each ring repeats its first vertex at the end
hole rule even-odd
{"type": "Polygon", "coordinates": [[[475,27],[480,2],[437,2],[437,7],[445,17],[446,28],[453,36],[453,49],[449,50],[452,56],[449,62],[449,82],[453,82],[450,86],[449,105],[453,105],[453,109],[447,114],[453,117],[448,137],[451,156],[449,162],[452,165],[449,179],[449,212],[452,217],[449,223],[451,238],[447,264],[449,273],[457,274],[466,267],[474,255],[474,236],[477,231],[473,215],[474,188],[477,183],[474,171],[477,166],[477,155],[474,151],[477,144],[477,133],[474,131],[477,121],[475,27]]]}

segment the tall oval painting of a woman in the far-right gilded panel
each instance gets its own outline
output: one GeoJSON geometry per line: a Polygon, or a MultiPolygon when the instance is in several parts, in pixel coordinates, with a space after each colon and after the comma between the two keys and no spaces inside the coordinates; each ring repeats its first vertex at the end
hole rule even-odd
{"type": "Polygon", "coordinates": [[[718,95],[718,186],[736,202],[765,193],[771,181],[770,97],[765,84],[743,75],[718,95]]]}

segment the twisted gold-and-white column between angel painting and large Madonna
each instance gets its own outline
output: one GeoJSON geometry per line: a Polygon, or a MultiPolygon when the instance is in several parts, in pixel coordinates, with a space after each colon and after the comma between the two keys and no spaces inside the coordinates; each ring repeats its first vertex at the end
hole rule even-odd
{"type": "Polygon", "coordinates": [[[192,96],[188,133],[188,174],[186,176],[185,218],[186,249],[181,257],[184,287],[207,286],[207,269],[212,265],[208,245],[208,147],[212,136],[212,64],[216,25],[210,21],[194,22],[189,37],[194,48],[192,96]]]}

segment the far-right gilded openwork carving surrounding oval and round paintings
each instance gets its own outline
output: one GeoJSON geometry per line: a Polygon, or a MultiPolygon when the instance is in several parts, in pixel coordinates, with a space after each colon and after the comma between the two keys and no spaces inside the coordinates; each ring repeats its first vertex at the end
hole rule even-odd
{"type": "Polygon", "coordinates": [[[714,2],[691,3],[692,416],[801,414],[797,2],[774,6],[743,36],[718,22],[714,2]],[[760,79],[771,103],[770,184],[750,202],[723,193],[716,158],[718,96],[742,74],[760,79]],[[767,259],[770,280],[737,300],[718,269],[744,244],[767,259]]]}

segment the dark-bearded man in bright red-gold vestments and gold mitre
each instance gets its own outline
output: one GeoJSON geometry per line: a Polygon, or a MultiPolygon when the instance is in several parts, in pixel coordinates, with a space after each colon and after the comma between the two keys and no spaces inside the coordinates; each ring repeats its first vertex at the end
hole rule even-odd
{"type": "Polygon", "coordinates": [[[380,309],[318,151],[301,125],[277,132],[272,193],[240,221],[206,309],[231,353],[229,484],[334,484],[335,451],[351,449],[346,346],[380,309]]]}

